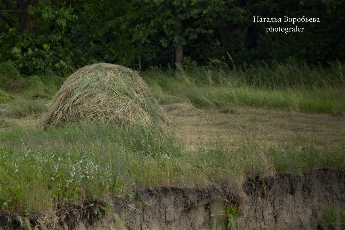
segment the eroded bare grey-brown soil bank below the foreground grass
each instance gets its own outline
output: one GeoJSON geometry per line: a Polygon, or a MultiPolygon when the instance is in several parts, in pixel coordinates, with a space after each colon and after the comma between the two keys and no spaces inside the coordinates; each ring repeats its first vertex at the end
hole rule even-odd
{"type": "MultiPolygon", "coordinates": [[[[117,199],[100,219],[95,207],[79,207],[60,219],[56,229],[226,229],[223,206],[239,210],[237,229],[316,229],[329,207],[344,208],[344,172],[318,169],[302,177],[278,174],[248,179],[241,189],[161,188],[141,191],[137,200],[117,199]],[[147,203],[145,205],[145,202],[147,203]],[[144,204],[144,205],[143,205],[144,204]]],[[[50,228],[39,214],[1,212],[1,229],[50,228]]],[[[41,216],[42,217],[42,216],[41,216]]],[[[342,220],[344,221],[344,220],[342,220]]],[[[344,226],[340,226],[344,228],[344,226]]]]}

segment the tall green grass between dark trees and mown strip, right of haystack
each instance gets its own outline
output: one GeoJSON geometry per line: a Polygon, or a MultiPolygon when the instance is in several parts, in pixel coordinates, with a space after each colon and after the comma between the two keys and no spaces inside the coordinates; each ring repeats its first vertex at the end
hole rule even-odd
{"type": "Polygon", "coordinates": [[[298,63],[267,64],[230,70],[214,60],[209,67],[142,74],[160,103],[187,101],[198,108],[237,105],[343,115],[344,64],[330,68],[298,63]]]}

